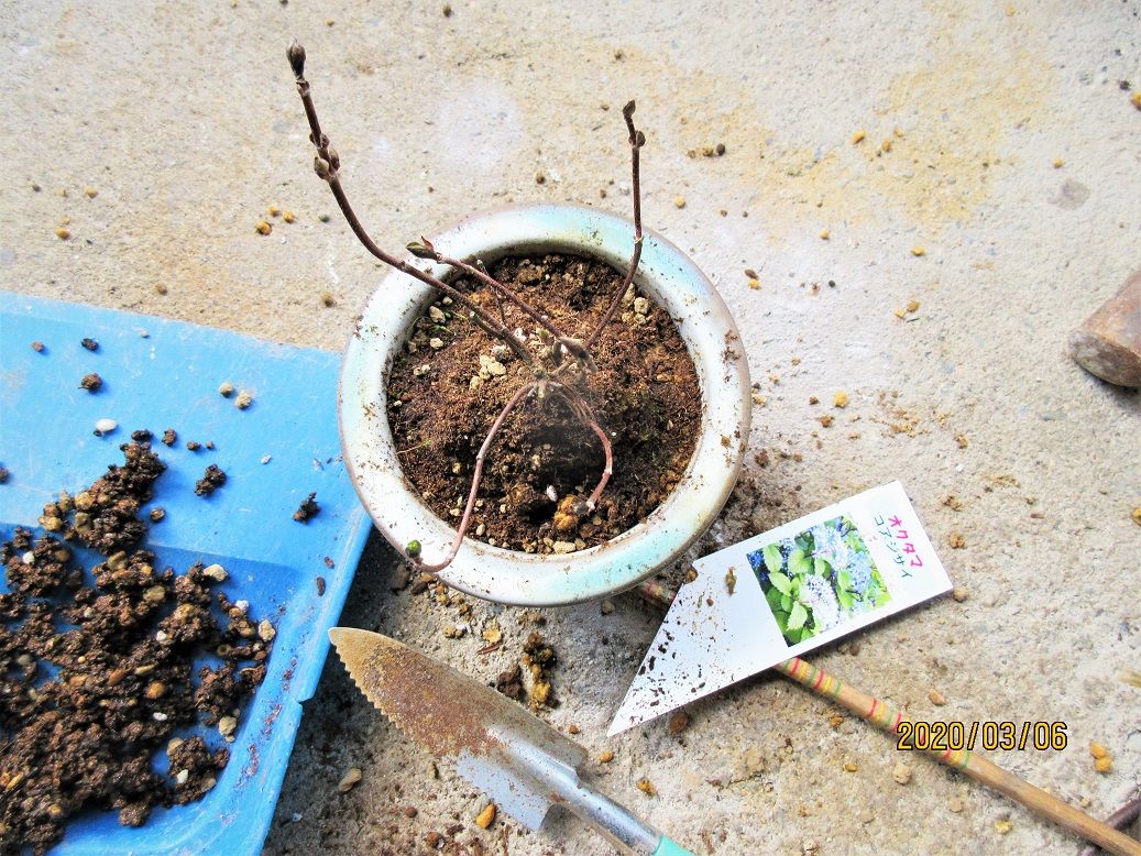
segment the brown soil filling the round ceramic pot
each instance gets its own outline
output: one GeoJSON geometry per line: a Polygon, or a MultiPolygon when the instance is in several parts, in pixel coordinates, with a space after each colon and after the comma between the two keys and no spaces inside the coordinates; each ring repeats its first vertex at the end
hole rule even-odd
{"type": "MultiPolygon", "coordinates": [[[[561,255],[505,258],[491,273],[582,339],[623,278],[598,260],[561,255]]],[[[471,280],[460,280],[459,288],[500,316],[488,288],[471,280]]],[[[404,475],[452,525],[487,430],[533,380],[510,348],[455,308],[448,298],[429,308],[388,377],[388,419],[404,475]]],[[[505,301],[502,310],[508,328],[528,337],[528,348],[550,353],[533,321],[505,301]]],[[[469,536],[528,552],[581,550],[644,519],[681,478],[696,445],[702,396],[673,320],[631,289],[592,356],[597,371],[576,386],[614,445],[614,475],[598,508],[556,516],[566,498],[591,493],[605,457],[598,437],[560,396],[532,396],[508,418],[488,453],[469,536]]]]}

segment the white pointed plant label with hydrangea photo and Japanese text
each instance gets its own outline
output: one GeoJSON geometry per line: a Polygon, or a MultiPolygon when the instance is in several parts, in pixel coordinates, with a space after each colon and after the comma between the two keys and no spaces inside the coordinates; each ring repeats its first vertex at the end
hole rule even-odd
{"type": "Polygon", "coordinates": [[[609,734],[950,590],[899,482],[694,563],[609,734]]]}

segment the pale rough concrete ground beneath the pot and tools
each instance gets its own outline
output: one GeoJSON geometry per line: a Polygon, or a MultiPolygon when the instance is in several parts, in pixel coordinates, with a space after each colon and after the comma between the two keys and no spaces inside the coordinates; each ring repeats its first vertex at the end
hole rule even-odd
{"type": "MultiPolygon", "coordinates": [[[[5,3],[0,288],[339,349],[381,272],[335,217],[318,219],[334,209],[309,167],[293,35],[347,187],[391,248],[511,200],[626,213],[618,107],[637,97],[646,223],[718,284],[764,399],[742,487],[702,551],[901,479],[969,597],[815,660],[919,718],[1063,721],[1067,750],[994,759],[1099,816],[1136,794],[1138,396],[1077,369],[1066,337],[1141,264],[1141,111],[1123,91],[1141,88],[1141,5],[452,9],[5,3]],[[719,143],[722,156],[699,154],[719,143]],[[258,234],[268,205],[297,221],[258,234]],[[70,240],[55,235],[64,218],[70,240]],[[1094,772],[1091,741],[1110,773],[1094,772]]],[[[518,659],[533,629],[520,611],[475,603],[477,632],[445,638],[459,607],[391,591],[396,565],[374,539],[345,623],[482,679],[518,659]],[[478,655],[493,616],[504,644],[478,655]]],[[[658,620],[633,598],[615,605],[544,611],[561,701],[548,719],[577,725],[596,758],[613,751],[590,780],[695,851],[1078,849],[925,758],[907,758],[913,777],[897,784],[892,741],[833,725],[833,709],[775,677],[694,705],[678,736],[654,722],[607,740],[658,620]],[[636,789],[642,776],[656,798],[636,789]]],[[[609,851],[570,821],[482,831],[483,803],[451,772],[436,778],[331,661],[266,850],[414,853],[435,832],[461,853],[609,851]],[[354,766],[364,778],[340,793],[354,766]]]]}

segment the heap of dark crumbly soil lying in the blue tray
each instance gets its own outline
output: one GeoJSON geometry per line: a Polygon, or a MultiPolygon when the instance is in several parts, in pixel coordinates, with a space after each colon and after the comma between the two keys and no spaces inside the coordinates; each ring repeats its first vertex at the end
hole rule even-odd
{"type": "Polygon", "coordinates": [[[131,549],[146,533],[137,512],[165,467],[149,443],[121,449],[124,466],[74,498],[62,494],[40,518],[48,532],[106,556],[90,568],[94,584],[55,535],[17,528],[0,546],[2,854],[44,853],[84,809],[118,809],[121,823],[137,826],[154,806],[200,799],[229,751],[175,733],[204,722],[229,738],[266,673],[273,628],[211,592],[226,579],[220,566],[179,576],[131,549]],[[205,654],[218,660],[195,681],[205,654]],[[160,752],[167,774],[152,768],[160,752]]]}

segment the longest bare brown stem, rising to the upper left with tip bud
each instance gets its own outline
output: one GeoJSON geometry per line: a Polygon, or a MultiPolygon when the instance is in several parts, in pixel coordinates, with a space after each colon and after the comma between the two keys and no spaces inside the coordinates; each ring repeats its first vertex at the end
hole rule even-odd
{"type": "Polygon", "coordinates": [[[519,340],[511,334],[511,331],[508,330],[507,326],[485,313],[483,308],[468,298],[467,294],[448,285],[443,280],[432,276],[427,270],[421,270],[403,259],[398,259],[391,253],[386,252],[378,247],[375,242],[373,242],[372,237],[369,236],[369,233],[365,231],[359,218],[356,216],[356,212],[353,210],[353,205],[349,203],[345,188],[341,186],[339,176],[341,165],[340,158],[338,156],[337,151],[329,144],[329,137],[321,130],[321,122],[317,119],[317,110],[313,104],[313,96],[309,92],[309,81],[305,79],[305,48],[294,41],[286,51],[286,56],[289,57],[290,66],[293,68],[293,76],[297,79],[297,91],[298,95],[301,96],[301,104],[305,107],[306,119],[309,120],[309,139],[317,148],[317,155],[314,159],[314,170],[319,178],[329,183],[329,188],[333,192],[333,197],[337,200],[337,204],[341,209],[345,220],[349,224],[349,228],[353,229],[353,234],[356,235],[357,241],[359,241],[369,252],[383,261],[386,265],[389,265],[400,273],[407,274],[427,285],[431,285],[451,297],[455,302],[467,308],[472,314],[472,317],[479,318],[483,322],[480,325],[484,326],[487,332],[497,339],[503,340],[511,347],[512,350],[515,350],[516,354],[519,355],[521,360],[524,360],[528,365],[534,366],[535,358],[531,352],[523,347],[519,340]]]}

